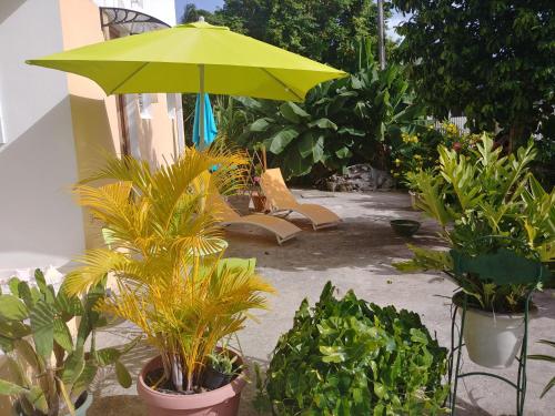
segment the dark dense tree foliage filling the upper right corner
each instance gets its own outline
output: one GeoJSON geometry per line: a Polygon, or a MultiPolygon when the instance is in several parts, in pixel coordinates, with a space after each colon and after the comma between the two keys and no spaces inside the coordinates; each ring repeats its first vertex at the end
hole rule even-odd
{"type": "MultiPolygon", "coordinates": [[[[400,54],[435,115],[461,110],[476,130],[495,123],[526,140],[551,124],[555,99],[552,0],[394,0],[412,13],[400,54]],[[542,125],[539,125],[542,129],[542,125]]],[[[552,138],[553,139],[553,138],[552,138]]]]}

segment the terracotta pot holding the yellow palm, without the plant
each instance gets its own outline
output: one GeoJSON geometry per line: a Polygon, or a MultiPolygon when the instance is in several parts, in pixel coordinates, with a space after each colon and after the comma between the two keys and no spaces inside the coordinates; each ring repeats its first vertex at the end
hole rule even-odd
{"type": "MultiPolygon", "coordinates": [[[[242,364],[241,357],[238,362],[242,364]]],[[[241,390],[246,384],[244,374],[215,390],[175,395],[153,390],[145,384],[147,374],[161,367],[160,356],[152,358],[143,367],[137,382],[137,390],[147,405],[150,416],[235,416],[238,414],[241,390]]]]}

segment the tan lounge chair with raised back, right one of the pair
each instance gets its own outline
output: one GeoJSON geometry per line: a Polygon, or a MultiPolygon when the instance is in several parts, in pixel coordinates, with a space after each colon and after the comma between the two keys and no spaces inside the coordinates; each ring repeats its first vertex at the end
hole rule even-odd
{"type": "Polygon", "coordinates": [[[286,214],[297,212],[306,216],[314,230],[321,230],[330,226],[335,226],[341,222],[341,219],[317,204],[300,204],[285,185],[285,181],[281,174],[281,170],[268,169],[260,177],[262,192],[268,199],[272,212],[279,213],[285,211],[286,214]]]}

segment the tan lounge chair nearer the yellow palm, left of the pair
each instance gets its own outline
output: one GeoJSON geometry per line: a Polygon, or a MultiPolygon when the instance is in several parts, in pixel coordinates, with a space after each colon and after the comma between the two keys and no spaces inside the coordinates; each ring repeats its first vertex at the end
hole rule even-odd
{"type": "Polygon", "coordinates": [[[275,234],[278,244],[282,244],[287,240],[293,239],[302,230],[289,221],[278,219],[271,215],[264,214],[251,214],[251,215],[239,215],[229,204],[224,201],[221,195],[211,195],[209,200],[210,204],[218,204],[220,209],[221,224],[226,225],[255,225],[264,230],[270,231],[275,234]]]}

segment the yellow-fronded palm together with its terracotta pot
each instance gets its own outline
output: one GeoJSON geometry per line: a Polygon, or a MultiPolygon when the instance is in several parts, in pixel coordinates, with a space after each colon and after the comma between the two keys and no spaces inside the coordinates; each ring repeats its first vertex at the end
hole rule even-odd
{"type": "Polygon", "coordinates": [[[188,149],[157,171],[131,158],[111,159],[75,186],[81,205],[110,231],[111,250],[88,251],[64,286],[81,293],[113,275],[117,291],[100,308],[134,323],[158,351],[138,381],[153,416],[236,414],[244,374],[210,390],[210,357],[243,327],[250,310],[266,307],[263,293],[273,288],[254,273],[254,261],[222,257],[219,212],[206,201],[216,190],[235,190],[244,163],[221,148],[188,149]],[[112,182],[94,186],[93,180],[112,182]]]}

